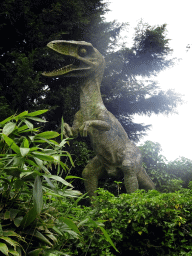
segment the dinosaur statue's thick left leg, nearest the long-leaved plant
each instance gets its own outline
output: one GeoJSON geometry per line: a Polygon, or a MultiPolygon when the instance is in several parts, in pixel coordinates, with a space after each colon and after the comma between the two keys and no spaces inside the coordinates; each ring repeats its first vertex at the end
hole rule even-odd
{"type": "Polygon", "coordinates": [[[94,192],[98,187],[98,180],[103,172],[103,163],[98,156],[95,156],[91,161],[89,161],[83,170],[82,177],[85,179],[85,189],[90,197],[96,196],[94,192]]]}

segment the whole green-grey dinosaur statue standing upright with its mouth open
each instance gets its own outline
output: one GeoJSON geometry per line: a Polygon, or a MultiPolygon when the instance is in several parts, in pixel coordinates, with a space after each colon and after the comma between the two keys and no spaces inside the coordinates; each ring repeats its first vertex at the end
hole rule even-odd
{"type": "Polygon", "coordinates": [[[89,161],[82,176],[90,197],[96,195],[99,178],[106,172],[124,175],[127,193],[138,188],[155,189],[142,167],[140,150],[128,138],[127,133],[115,116],[110,113],[102,100],[100,84],[105,68],[103,56],[91,43],[83,41],[56,40],[48,43],[66,57],[71,64],[44,76],[77,77],[80,84],[80,110],[75,114],[72,127],[65,123],[66,137],[89,136],[96,156],[89,161]]]}

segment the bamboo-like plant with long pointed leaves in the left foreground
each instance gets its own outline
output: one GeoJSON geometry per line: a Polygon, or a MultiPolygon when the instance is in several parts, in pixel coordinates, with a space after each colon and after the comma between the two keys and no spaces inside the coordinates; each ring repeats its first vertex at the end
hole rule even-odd
{"type": "MultiPolygon", "coordinates": [[[[0,251],[3,255],[71,255],[70,243],[85,240],[80,227],[102,230],[105,240],[114,246],[108,233],[91,218],[79,218],[81,193],[66,180],[52,175],[67,171],[62,160],[71,155],[63,150],[67,142],[55,140],[59,133],[42,132],[34,122],[46,122],[39,115],[24,111],[0,122],[0,251]],[[65,241],[65,244],[63,244],[65,241]]],[[[85,216],[83,216],[85,217],[85,216]]],[[[115,248],[116,249],[116,248],[115,248]]]]}

